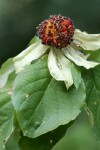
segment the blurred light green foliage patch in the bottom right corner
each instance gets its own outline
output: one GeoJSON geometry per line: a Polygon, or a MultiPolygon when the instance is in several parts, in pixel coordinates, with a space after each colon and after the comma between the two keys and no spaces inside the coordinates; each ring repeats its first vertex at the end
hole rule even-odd
{"type": "Polygon", "coordinates": [[[100,150],[100,142],[97,142],[90,128],[86,113],[83,112],[65,137],[53,148],[53,150],[100,150]]]}

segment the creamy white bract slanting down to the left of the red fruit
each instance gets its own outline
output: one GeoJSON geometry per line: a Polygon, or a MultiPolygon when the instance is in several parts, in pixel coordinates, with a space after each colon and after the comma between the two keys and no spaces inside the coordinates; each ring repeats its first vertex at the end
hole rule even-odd
{"type": "Polygon", "coordinates": [[[48,46],[41,44],[38,40],[36,43],[30,45],[22,53],[14,57],[14,65],[16,68],[16,73],[24,69],[26,65],[29,65],[33,60],[41,57],[48,49],[48,46]]]}

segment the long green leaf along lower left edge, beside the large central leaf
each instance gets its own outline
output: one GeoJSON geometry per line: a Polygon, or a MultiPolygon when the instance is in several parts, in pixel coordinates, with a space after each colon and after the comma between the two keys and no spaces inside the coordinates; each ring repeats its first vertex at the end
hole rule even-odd
{"type": "Polygon", "coordinates": [[[13,131],[14,109],[11,94],[14,79],[15,73],[10,73],[7,77],[6,85],[0,89],[0,146],[2,147],[0,147],[0,150],[4,149],[5,143],[13,131]]]}

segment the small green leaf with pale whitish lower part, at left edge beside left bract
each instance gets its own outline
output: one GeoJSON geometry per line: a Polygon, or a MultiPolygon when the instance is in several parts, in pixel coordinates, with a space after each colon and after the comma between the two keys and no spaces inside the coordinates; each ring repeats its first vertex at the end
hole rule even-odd
{"type": "Polygon", "coordinates": [[[9,75],[14,72],[13,59],[8,59],[0,69],[0,88],[3,88],[9,78],[9,75]]]}

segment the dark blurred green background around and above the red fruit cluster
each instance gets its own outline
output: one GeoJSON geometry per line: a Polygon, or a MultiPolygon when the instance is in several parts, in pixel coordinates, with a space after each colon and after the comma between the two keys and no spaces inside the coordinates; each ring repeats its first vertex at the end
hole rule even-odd
{"type": "Polygon", "coordinates": [[[100,0],[0,0],[0,65],[25,49],[36,26],[54,14],[71,18],[81,30],[100,32],[100,0]]]}

